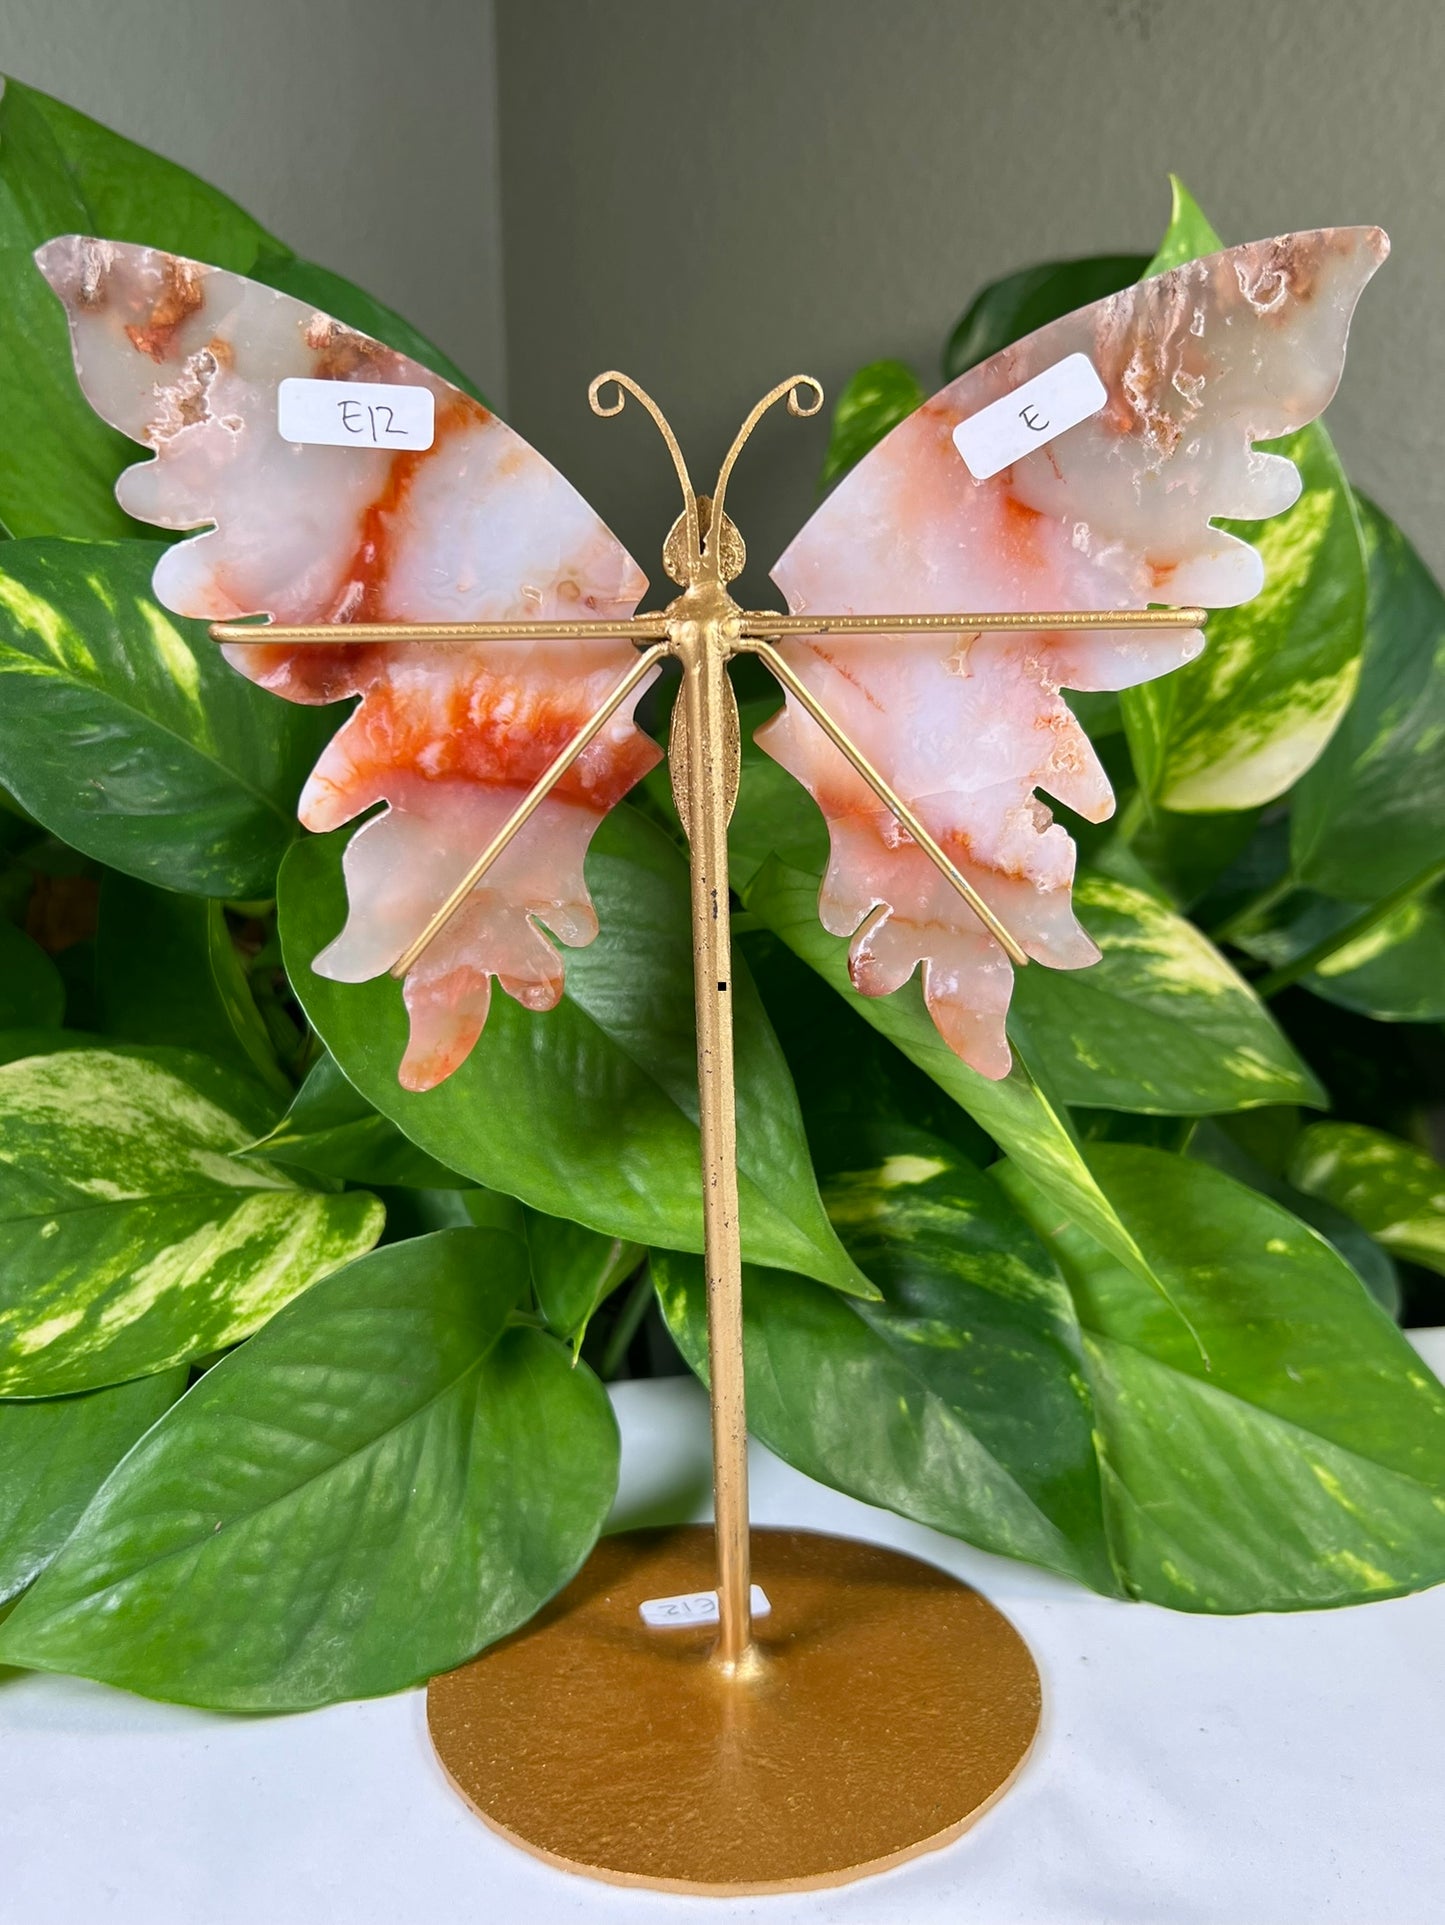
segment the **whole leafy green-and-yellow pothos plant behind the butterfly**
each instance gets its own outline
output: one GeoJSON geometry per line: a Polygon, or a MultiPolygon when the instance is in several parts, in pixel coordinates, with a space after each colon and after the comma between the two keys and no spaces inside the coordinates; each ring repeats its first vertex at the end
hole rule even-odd
{"type": "MultiPolygon", "coordinates": [[[[223,194],[6,89],[0,1659],[246,1709],[385,1692],[587,1555],[598,1378],[643,1319],[704,1367],[681,839],[666,783],[616,808],[564,1003],[502,999],[464,1070],[400,1090],[394,984],[310,970],[341,851],[294,801],[339,716],[152,599],[160,543],[112,493],[133,450],[31,262],[71,231],[269,281],[469,387],[223,194]]],[[[1216,244],[1179,191],[1153,268],[1216,244]]],[[[945,373],[1149,268],[985,289],[945,373]]],[[[864,370],[825,479],[922,398],[864,370]]],[[[1241,529],[1266,593],[1158,687],[1079,703],[1122,797],[1070,824],[1103,961],[1020,980],[1004,1082],[916,986],[852,995],[822,818],[752,753],[733,824],[758,1434],[1193,1611],[1445,1577],[1445,1398],[1393,1321],[1445,1269],[1445,601],[1324,429],[1287,452],[1299,504],[1241,529]]]]}

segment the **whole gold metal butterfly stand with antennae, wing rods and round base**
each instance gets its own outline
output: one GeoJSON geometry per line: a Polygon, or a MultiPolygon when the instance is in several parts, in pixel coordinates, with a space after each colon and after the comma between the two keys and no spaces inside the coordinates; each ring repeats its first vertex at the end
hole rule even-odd
{"type": "MultiPolygon", "coordinates": [[[[727,664],[756,654],[947,876],[1014,964],[1027,955],[914,810],[777,653],[791,635],[972,629],[1199,628],[1203,608],[1045,614],[785,616],[729,595],[745,562],[727,483],[762,416],[787,398],[812,416],[812,375],[752,408],[708,495],[677,437],[625,373],[589,400],[652,416],[683,491],[662,551],[681,593],[627,622],[369,622],[269,626],[267,643],[583,641],[627,635],[637,660],[396,959],[404,978],[577,757],[673,656],[683,670],[668,751],[691,847],[702,1224],[708,1286],[716,1527],[604,1538],[583,1575],[531,1627],[435,1679],[429,1723],[450,1777],[481,1815],[554,1863],[614,1883],[693,1892],[839,1885],[966,1829],[1020,1769],[1039,1721],[1027,1646],[985,1600],[875,1546],[762,1532],[772,1611],[750,1609],[743,1249],[733,1093],[727,822],[741,743],[727,664]],[[610,391],[610,398],[608,397],[610,391]],[[716,1544],[716,1550],[714,1550],[716,1544]],[[646,1630],[646,1596],[697,1592],[716,1559],[718,1634],[646,1630]],[[681,1802],[679,1802],[681,1794],[681,1802]]],[[[254,641],[215,624],[217,641],[254,641]]]]}

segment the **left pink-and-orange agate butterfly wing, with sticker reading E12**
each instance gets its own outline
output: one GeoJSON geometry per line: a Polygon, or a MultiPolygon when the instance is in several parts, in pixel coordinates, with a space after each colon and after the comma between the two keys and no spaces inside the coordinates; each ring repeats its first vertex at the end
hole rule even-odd
{"type": "MultiPolygon", "coordinates": [[[[121,506],[177,543],[156,595],[177,614],[277,622],[625,620],[646,585],[587,502],[487,408],[306,302],[142,246],[67,237],[37,256],[71,321],[94,408],[154,460],[121,506]],[[277,431],[287,375],[431,389],[425,450],[312,447],[277,431]]],[[[244,645],[227,658],[296,703],[360,695],[300,799],[308,830],[387,808],[346,849],[350,914],[323,976],[387,970],[537,776],[635,660],[616,641],[244,645]]],[[[641,689],[639,689],[641,695],[641,689]]],[[[400,1068],[427,1090],[468,1055],[493,976],[527,1009],[562,995],[564,943],[596,934],[583,857],[656,762],[627,703],[406,976],[400,1068]]]]}

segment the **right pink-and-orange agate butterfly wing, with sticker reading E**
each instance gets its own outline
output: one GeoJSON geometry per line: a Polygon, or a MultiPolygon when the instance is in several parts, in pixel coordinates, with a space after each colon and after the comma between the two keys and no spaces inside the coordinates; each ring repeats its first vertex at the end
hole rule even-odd
{"type": "MultiPolygon", "coordinates": [[[[1299,493],[1253,443],[1312,422],[1339,381],[1376,227],[1230,248],[1041,327],[960,375],[883,439],[773,570],[795,614],[1224,608],[1262,583],[1255,549],[1210,526],[1299,493]],[[1066,356],[1101,412],[976,481],[954,427],[1066,356]]],[[[977,466],[985,466],[979,462],[977,466]]],[[[1074,918],[1074,843],[1043,789],[1099,822],[1114,797],[1060,689],[1124,689],[1203,647],[1199,631],[1089,629],[791,639],[810,691],[920,814],[1022,947],[1052,968],[1097,949],[1074,918]]],[[[1004,1076],[1012,968],[999,943],[795,703],[758,743],[831,832],[820,912],[852,936],[864,995],[924,962],[945,1041],[1004,1076]],[[854,934],[856,932],[856,934],[854,934]]]]}

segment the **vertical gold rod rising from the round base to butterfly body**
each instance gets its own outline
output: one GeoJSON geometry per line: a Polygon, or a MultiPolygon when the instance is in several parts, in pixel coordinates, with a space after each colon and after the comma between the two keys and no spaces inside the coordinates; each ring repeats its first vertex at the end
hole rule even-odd
{"type": "Polygon", "coordinates": [[[693,870],[697,1093],[702,1136],[702,1244],[708,1278],[712,1492],[718,1536],[718,1648],[733,1675],[752,1652],[748,1432],[743,1388],[743,1244],[737,1211],[733,959],[727,907],[727,645],[716,616],[681,622],[673,651],[687,705],[687,832],[693,870]]]}

